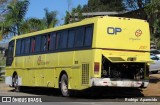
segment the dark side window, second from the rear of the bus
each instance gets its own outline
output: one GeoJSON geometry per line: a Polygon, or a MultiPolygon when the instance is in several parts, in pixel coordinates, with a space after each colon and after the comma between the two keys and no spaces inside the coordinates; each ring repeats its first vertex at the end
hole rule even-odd
{"type": "Polygon", "coordinates": [[[82,47],[83,46],[83,41],[84,41],[84,28],[79,27],[76,30],[75,47],[82,47]]]}

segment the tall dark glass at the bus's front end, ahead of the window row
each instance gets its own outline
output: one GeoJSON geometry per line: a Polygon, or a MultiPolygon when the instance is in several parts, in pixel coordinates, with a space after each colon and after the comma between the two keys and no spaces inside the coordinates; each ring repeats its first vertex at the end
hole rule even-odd
{"type": "Polygon", "coordinates": [[[7,59],[6,59],[6,66],[11,66],[13,59],[14,59],[14,40],[9,42],[8,50],[7,50],[7,59]]]}

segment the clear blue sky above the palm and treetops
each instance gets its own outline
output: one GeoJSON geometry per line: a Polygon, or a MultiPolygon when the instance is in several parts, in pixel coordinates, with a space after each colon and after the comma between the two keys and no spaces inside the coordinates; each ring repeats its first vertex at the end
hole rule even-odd
{"type": "Polygon", "coordinates": [[[65,13],[68,10],[68,1],[70,1],[70,8],[77,7],[77,5],[87,4],[88,0],[30,0],[30,5],[26,18],[34,17],[42,19],[45,15],[44,8],[48,8],[49,11],[57,11],[59,25],[63,24],[65,13]]]}

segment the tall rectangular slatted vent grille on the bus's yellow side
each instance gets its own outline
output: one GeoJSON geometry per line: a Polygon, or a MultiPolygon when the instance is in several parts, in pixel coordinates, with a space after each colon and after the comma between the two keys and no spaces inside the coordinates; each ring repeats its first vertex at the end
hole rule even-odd
{"type": "Polygon", "coordinates": [[[82,84],[89,84],[89,64],[82,64],[82,84]]]}

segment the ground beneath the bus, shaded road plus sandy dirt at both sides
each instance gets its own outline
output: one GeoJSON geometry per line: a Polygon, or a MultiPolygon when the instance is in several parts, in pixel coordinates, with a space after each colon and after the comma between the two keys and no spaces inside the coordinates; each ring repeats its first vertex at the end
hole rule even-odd
{"type": "MultiPolygon", "coordinates": [[[[158,104],[160,105],[160,74],[151,75],[150,85],[147,89],[128,89],[128,88],[98,88],[89,89],[85,91],[78,92],[75,97],[63,97],[60,91],[57,89],[49,88],[25,88],[23,92],[15,92],[13,88],[8,87],[4,83],[0,83],[0,96],[12,96],[17,98],[31,97],[31,98],[41,98],[43,102],[48,105],[143,105],[143,104],[158,104]],[[89,94],[92,93],[92,94],[89,94]],[[148,97],[151,96],[151,97],[148,97]],[[138,99],[153,99],[156,98],[159,102],[138,102],[138,99]],[[51,103],[54,102],[54,103],[51,103]],[[129,102],[129,103],[128,103],[129,102]]],[[[1,98],[1,97],[0,97],[1,98]]],[[[1,99],[0,99],[1,100],[1,99]]],[[[0,103],[3,105],[8,105],[8,103],[0,103]]],[[[10,103],[11,105],[26,104],[26,103],[10,103]]],[[[44,105],[44,103],[32,103],[32,105],[44,105]]]]}

